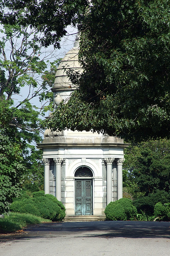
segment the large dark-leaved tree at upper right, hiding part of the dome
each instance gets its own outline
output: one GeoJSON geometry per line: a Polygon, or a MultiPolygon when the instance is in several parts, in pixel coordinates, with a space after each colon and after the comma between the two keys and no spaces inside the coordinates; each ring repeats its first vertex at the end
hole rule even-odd
{"type": "Polygon", "coordinates": [[[170,1],[92,0],[79,18],[79,89],[49,126],[170,138],[170,1]]]}

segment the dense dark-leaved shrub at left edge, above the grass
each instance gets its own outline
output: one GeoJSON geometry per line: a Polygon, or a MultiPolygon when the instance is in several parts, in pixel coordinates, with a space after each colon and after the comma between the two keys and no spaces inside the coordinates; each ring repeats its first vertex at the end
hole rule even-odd
{"type": "Polygon", "coordinates": [[[12,198],[20,194],[23,182],[22,147],[0,131],[0,214],[8,212],[12,198]]]}

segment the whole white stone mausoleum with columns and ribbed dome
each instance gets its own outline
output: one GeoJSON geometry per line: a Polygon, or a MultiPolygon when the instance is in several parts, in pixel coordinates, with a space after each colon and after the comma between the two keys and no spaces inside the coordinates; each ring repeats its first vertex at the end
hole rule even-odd
{"type": "MultiPolygon", "coordinates": [[[[74,87],[66,71],[81,72],[78,43],[64,56],[57,68],[54,108],[68,100],[74,87]]],[[[123,149],[121,138],[93,132],[46,129],[38,148],[43,149],[45,194],[53,194],[63,202],[66,216],[104,216],[106,205],[122,198],[123,149]]]]}

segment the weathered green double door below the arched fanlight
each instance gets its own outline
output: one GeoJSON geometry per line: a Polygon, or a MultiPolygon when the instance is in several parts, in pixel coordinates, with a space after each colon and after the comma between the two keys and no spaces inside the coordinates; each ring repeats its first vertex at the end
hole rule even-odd
{"type": "Polygon", "coordinates": [[[92,214],[92,180],[75,180],[75,215],[92,214]]]}

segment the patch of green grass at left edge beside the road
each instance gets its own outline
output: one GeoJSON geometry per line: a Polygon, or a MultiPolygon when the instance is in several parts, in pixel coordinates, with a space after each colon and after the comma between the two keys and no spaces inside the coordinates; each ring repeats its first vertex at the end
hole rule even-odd
{"type": "Polygon", "coordinates": [[[5,218],[0,218],[0,234],[15,232],[25,228],[27,225],[38,224],[41,222],[51,222],[35,215],[11,212],[5,214],[5,218]]]}

